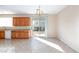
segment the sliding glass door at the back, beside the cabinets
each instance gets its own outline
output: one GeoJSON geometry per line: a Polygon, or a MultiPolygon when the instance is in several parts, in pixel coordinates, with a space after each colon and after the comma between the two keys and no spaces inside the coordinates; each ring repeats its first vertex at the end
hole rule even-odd
{"type": "Polygon", "coordinates": [[[37,16],[32,18],[32,32],[35,36],[47,36],[47,16],[37,16]]]}

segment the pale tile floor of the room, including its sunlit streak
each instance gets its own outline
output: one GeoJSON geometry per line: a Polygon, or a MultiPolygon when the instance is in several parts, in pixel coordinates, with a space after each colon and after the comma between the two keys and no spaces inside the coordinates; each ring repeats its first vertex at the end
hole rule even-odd
{"type": "Polygon", "coordinates": [[[0,39],[0,53],[75,53],[56,38],[0,39]]]}

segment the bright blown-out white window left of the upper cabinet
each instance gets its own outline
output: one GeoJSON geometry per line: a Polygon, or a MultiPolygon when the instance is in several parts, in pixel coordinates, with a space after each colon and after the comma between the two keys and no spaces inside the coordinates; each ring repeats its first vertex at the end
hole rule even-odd
{"type": "Polygon", "coordinates": [[[0,27],[12,27],[12,25],[13,25],[12,17],[0,18],[0,27]]]}

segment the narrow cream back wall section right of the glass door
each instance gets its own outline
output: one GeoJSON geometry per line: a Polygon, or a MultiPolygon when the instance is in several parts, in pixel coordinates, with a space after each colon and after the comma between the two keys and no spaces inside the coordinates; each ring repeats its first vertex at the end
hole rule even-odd
{"type": "Polygon", "coordinates": [[[48,15],[48,37],[56,37],[56,15],[48,15]]]}

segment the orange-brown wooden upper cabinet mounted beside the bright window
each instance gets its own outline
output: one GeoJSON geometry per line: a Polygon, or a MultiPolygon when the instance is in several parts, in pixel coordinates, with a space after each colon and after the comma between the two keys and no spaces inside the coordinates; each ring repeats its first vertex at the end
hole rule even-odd
{"type": "Polygon", "coordinates": [[[13,26],[30,26],[30,17],[13,17],[13,26]]]}

